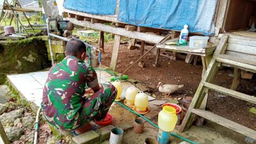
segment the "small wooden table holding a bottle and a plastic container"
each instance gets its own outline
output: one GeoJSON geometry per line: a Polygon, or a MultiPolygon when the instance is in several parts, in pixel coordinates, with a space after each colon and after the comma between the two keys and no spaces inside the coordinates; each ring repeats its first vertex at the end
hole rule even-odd
{"type": "Polygon", "coordinates": [[[197,56],[201,56],[201,58],[202,58],[202,65],[203,65],[202,76],[204,76],[205,70],[207,69],[207,67],[212,59],[212,54],[213,54],[214,50],[216,49],[216,46],[207,46],[204,48],[191,48],[188,45],[177,46],[177,45],[167,45],[166,44],[168,42],[175,42],[175,41],[177,41],[176,38],[172,39],[172,40],[168,40],[164,44],[156,45],[157,52],[156,52],[155,65],[156,66],[158,65],[159,54],[160,54],[161,49],[168,50],[168,51],[182,52],[182,53],[186,53],[186,54],[195,54],[197,56]]]}

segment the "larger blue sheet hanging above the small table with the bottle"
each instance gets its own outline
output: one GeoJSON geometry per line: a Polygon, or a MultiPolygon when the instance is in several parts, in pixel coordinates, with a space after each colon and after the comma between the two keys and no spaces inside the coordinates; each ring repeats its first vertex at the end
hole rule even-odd
{"type": "Polygon", "coordinates": [[[118,20],[136,26],[214,35],[218,0],[120,0],[118,20]]]}

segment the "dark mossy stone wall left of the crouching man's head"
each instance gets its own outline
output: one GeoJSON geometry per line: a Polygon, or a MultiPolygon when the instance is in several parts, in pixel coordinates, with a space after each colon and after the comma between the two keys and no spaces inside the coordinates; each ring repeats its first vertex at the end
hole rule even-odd
{"type": "Polygon", "coordinates": [[[35,72],[47,67],[51,67],[51,61],[42,37],[0,41],[0,81],[3,82],[4,74],[35,72]]]}

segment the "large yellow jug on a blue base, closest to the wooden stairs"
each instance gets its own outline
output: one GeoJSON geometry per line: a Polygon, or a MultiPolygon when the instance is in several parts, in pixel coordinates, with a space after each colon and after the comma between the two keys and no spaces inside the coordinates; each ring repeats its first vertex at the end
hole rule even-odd
{"type": "Polygon", "coordinates": [[[158,114],[159,129],[165,132],[171,132],[175,128],[177,120],[176,109],[172,106],[164,106],[158,114]]]}

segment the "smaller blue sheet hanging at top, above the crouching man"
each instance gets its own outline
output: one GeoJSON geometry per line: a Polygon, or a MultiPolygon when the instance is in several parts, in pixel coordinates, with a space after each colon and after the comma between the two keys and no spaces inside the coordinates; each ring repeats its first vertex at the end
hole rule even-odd
{"type": "Polygon", "coordinates": [[[116,0],[66,0],[64,8],[94,15],[115,15],[116,0]]]}

